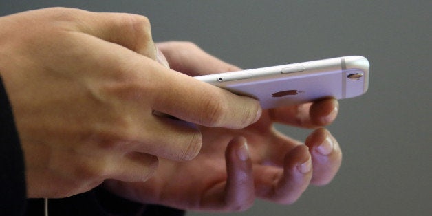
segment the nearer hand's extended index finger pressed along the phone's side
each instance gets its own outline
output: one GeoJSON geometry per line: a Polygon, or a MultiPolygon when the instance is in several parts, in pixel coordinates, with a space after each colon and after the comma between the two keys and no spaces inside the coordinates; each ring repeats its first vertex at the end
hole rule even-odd
{"type": "Polygon", "coordinates": [[[243,128],[256,122],[261,107],[255,99],[196,80],[191,76],[155,65],[153,109],[206,127],[243,128]]]}

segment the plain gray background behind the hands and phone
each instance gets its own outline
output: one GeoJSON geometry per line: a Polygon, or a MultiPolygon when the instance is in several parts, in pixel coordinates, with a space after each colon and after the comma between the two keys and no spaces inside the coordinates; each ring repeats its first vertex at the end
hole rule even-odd
{"type": "Polygon", "coordinates": [[[432,1],[1,0],[0,14],[47,6],[144,14],[155,41],[193,41],[244,68],[367,56],[369,91],[342,100],[329,127],[344,153],[334,181],[292,206],[228,215],[432,215],[432,1]]]}

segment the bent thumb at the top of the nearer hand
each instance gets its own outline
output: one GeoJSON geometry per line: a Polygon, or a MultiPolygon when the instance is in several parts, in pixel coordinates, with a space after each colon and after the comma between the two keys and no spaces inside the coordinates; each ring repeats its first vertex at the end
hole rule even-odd
{"type": "Polygon", "coordinates": [[[157,51],[151,36],[149,19],[137,14],[80,11],[80,32],[127,47],[153,60],[157,51]]]}

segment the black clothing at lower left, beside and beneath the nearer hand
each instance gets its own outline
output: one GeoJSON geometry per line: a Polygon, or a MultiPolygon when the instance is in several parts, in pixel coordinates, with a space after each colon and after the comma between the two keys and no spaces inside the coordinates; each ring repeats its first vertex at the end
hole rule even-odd
{"type": "MultiPolygon", "coordinates": [[[[44,215],[43,199],[26,199],[23,151],[12,109],[0,78],[0,215],[44,215]]],[[[49,199],[52,215],[184,215],[183,210],[145,205],[94,188],[63,199],[49,199]]]]}

